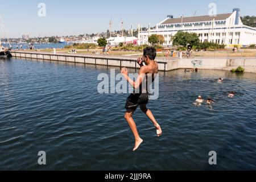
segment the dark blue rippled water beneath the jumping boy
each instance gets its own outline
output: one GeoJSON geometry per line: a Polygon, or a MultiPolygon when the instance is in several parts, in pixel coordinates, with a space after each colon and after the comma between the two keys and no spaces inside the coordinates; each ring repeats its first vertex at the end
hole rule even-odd
{"type": "Polygon", "coordinates": [[[100,73],[110,68],[0,60],[0,169],[256,169],[256,74],[160,73],[159,99],[148,107],[163,135],[156,137],[138,109],[134,120],[144,143],[132,152],[123,118],[128,94],[99,94],[100,73]],[[218,84],[218,77],[225,81],[218,84]],[[234,98],[227,97],[230,90],[238,92],[234,98]],[[216,103],[193,105],[199,94],[216,103]],[[46,166],[38,164],[39,151],[46,151],[46,166]],[[209,151],[217,152],[216,166],[208,163],[209,151]]]}

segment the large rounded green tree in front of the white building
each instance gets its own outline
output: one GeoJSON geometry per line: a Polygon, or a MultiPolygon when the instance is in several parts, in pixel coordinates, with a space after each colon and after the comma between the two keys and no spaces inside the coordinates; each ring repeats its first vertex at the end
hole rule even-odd
{"type": "Polygon", "coordinates": [[[188,44],[192,46],[197,46],[200,43],[199,36],[196,33],[189,33],[178,31],[177,34],[172,39],[172,44],[174,46],[186,47],[188,44]]]}

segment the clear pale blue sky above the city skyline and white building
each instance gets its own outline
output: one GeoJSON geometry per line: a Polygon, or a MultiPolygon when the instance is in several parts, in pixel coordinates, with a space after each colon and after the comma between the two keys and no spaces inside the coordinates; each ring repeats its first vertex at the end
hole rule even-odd
{"type": "MultiPolygon", "coordinates": [[[[232,13],[234,7],[241,9],[241,15],[255,15],[255,0],[0,0],[3,22],[7,36],[21,37],[23,34],[34,36],[79,35],[103,32],[109,29],[112,17],[113,30],[120,30],[121,19],[126,29],[131,25],[150,23],[155,26],[166,15],[175,18],[184,16],[207,15],[209,3],[216,3],[217,14],[232,13]],[[46,17],[38,16],[38,4],[46,4],[46,17]],[[3,8],[5,7],[5,8],[3,8]]],[[[1,31],[0,31],[1,32],[1,31]]],[[[2,35],[1,35],[2,36],[2,35]]]]}

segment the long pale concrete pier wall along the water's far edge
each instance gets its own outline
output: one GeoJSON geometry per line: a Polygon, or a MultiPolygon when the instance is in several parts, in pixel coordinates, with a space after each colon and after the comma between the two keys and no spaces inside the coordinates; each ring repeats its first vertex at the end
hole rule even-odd
{"type": "MultiPolygon", "coordinates": [[[[43,52],[23,52],[13,51],[11,54],[14,57],[63,61],[70,63],[106,65],[114,67],[139,68],[136,59],[127,57],[112,57],[112,56],[89,56],[89,55],[70,55],[63,53],[43,53],[43,52]]],[[[194,59],[176,59],[170,61],[156,60],[159,63],[159,71],[171,71],[174,69],[220,69],[230,71],[239,66],[245,68],[245,72],[256,73],[256,58],[246,59],[229,59],[218,57],[195,57],[194,59]]]]}

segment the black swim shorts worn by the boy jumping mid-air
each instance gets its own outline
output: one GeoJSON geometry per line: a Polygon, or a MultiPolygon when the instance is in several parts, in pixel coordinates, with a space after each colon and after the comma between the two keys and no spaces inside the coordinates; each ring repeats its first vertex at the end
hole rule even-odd
{"type": "Polygon", "coordinates": [[[125,108],[127,113],[133,113],[139,105],[148,103],[148,93],[130,94],[126,100],[125,108]]]}

